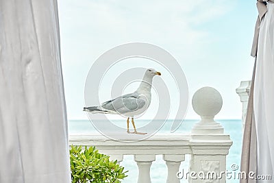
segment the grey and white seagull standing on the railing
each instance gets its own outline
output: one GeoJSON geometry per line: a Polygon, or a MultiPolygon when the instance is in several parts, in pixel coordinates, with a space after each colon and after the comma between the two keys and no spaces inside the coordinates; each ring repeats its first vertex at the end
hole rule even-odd
{"type": "Polygon", "coordinates": [[[128,134],[142,134],[147,133],[137,132],[134,123],[134,116],[145,112],[151,103],[151,85],[155,75],[161,75],[155,69],[147,69],[140,86],[134,93],[129,93],[101,103],[100,106],[91,106],[84,108],[84,111],[92,114],[120,114],[127,117],[127,133],[128,134]],[[134,132],[129,132],[129,118],[132,118],[132,125],[134,132]]]}

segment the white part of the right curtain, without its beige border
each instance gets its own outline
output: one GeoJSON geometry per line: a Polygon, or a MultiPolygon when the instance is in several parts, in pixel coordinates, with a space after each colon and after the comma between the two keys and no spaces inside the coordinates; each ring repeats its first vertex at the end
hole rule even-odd
{"type": "MultiPolygon", "coordinates": [[[[268,3],[260,24],[256,75],[254,82],[254,117],[257,134],[257,173],[274,175],[274,3],[268,3]]],[[[257,182],[265,182],[258,180],[257,182]]]]}

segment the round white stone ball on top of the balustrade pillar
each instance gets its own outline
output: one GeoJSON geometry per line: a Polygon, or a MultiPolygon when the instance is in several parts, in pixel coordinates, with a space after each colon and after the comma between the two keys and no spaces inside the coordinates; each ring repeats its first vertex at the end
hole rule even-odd
{"type": "Polygon", "coordinates": [[[218,90],[212,87],[203,87],[197,90],[192,97],[192,107],[199,116],[214,117],[223,106],[223,99],[218,90]]]}

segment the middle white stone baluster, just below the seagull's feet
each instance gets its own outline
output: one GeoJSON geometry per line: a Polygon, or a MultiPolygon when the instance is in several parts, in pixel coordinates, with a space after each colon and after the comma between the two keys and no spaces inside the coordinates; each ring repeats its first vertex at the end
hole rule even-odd
{"type": "Polygon", "coordinates": [[[138,183],[151,183],[150,167],[155,161],[155,155],[135,155],[134,160],[137,162],[139,175],[138,183]]]}

